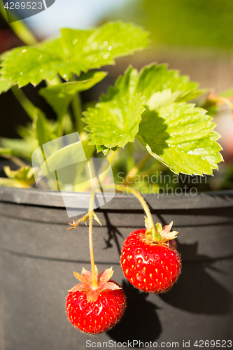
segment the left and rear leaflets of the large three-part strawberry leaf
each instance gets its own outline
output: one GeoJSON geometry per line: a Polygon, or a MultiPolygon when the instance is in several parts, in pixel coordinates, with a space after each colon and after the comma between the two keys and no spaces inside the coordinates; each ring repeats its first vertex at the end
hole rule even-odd
{"type": "Polygon", "coordinates": [[[138,132],[143,103],[159,110],[175,101],[197,97],[202,93],[197,87],[188,76],[168,71],[166,65],[151,64],[140,72],[129,67],[115,86],[108,89],[108,94],[83,113],[90,144],[97,145],[97,151],[104,154],[108,152],[106,148],[125,146],[134,141],[138,132]]]}

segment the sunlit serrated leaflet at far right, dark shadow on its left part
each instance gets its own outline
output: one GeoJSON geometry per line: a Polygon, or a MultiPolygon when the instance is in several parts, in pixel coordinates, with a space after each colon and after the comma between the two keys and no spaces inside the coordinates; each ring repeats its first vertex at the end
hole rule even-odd
{"type": "Polygon", "coordinates": [[[194,104],[174,102],[160,111],[147,109],[137,139],[176,174],[211,175],[223,160],[211,120],[194,104]]]}

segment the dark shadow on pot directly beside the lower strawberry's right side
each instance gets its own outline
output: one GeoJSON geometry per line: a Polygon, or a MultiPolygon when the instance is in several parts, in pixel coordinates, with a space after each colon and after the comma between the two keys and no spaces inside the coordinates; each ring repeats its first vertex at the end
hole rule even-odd
{"type": "Polygon", "coordinates": [[[135,339],[140,339],[141,342],[148,342],[148,339],[154,341],[162,332],[155,311],[158,308],[146,300],[148,294],[140,292],[129,282],[123,281],[122,288],[127,297],[127,308],[120,323],[109,330],[108,335],[116,342],[133,342],[135,339]]]}

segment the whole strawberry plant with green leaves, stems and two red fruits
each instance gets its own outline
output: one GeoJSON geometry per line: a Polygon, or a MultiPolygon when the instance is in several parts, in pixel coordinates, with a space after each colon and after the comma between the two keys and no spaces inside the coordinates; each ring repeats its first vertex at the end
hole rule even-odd
{"type": "MultiPolygon", "coordinates": [[[[164,228],[160,223],[154,225],[143,197],[127,185],[134,186],[134,181],[129,180],[148,161],[146,173],[153,172],[155,165],[160,169],[167,167],[175,174],[199,176],[212,175],[213,169],[218,169],[223,158],[217,143],[220,135],[214,131],[216,125],[206,110],[190,102],[204,90],[188,76],[168,69],[166,64],[153,63],[140,71],[129,66],[115,85],[89,106],[82,106],[79,95],[106,77],[106,71],[97,71],[101,66],[115,64],[117,57],[142,50],[148,44],[148,32],[140,27],[108,22],[97,29],[62,29],[59,38],[4,52],[0,93],[11,89],[31,123],[18,128],[21,139],[0,139],[0,155],[20,165],[14,172],[5,167],[8,179],[0,179],[0,185],[33,186],[28,164],[31,154],[38,147],[73,132],[79,133],[87,160],[107,156],[115,175],[127,163],[124,186],[116,188],[136,195],[147,218],[146,230],[132,232],[123,245],[122,269],[136,288],[147,293],[164,293],[181,273],[181,258],[174,244],[177,232],[170,232],[172,223],[164,228]],[[41,82],[45,85],[39,94],[55,111],[56,120],[45,116],[24,94],[25,85],[36,86],[41,82]],[[143,150],[143,158],[135,165],[133,155],[137,147],[143,150]],[[122,162],[117,160],[118,154],[122,162]]],[[[69,145],[69,151],[76,153],[76,147],[76,143],[69,145]]],[[[67,149],[56,151],[50,161],[58,164],[66,158],[67,149]]],[[[72,175],[64,179],[64,185],[74,181],[72,175]]],[[[46,186],[53,189],[49,182],[46,186]]],[[[74,273],[81,283],[69,290],[66,311],[77,328],[97,334],[120,320],[126,301],[120,286],[111,281],[113,271],[106,269],[98,274],[94,264],[93,218],[99,222],[93,211],[94,192],[92,188],[89,213],[73,221],[70,228],[78,228],[80,221],[89,218],[92,269],[74,273]]]]}

